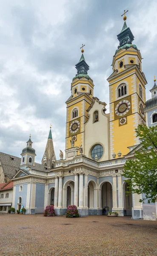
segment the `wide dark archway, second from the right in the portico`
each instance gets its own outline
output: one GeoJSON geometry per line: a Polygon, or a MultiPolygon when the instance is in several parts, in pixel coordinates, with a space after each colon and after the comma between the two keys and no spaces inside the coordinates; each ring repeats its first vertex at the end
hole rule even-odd
{"type": "Polygon", "coordinates": [[[108,207],[109,211],[112,211],[113,199],[112,199],[112,185],[110,182],[105,181],[100,184],[100,209],[108,207]]]}

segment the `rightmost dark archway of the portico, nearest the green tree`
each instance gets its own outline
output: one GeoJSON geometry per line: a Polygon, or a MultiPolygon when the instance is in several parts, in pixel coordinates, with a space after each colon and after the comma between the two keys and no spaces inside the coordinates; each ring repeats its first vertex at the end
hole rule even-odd
{"type": "Polygon", "coordinates": [[[129,192],[128,183],[123,183],[124,216],[132,216],[132,193],[129,192]]]}

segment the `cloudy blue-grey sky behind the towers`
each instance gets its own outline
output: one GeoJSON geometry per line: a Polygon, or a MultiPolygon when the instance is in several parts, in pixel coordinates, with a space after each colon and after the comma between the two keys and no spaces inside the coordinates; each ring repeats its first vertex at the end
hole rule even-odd
{"type": "Polygon", "coordinates": [[[94,96],[109,103],[106,79],[124,9],[143,56],[149,99],[157,75],[157,0],[0,0],[0,151],[20,157],[31,133],[40,163],[52,123],[59,158],[82,44],[94,96]]]}

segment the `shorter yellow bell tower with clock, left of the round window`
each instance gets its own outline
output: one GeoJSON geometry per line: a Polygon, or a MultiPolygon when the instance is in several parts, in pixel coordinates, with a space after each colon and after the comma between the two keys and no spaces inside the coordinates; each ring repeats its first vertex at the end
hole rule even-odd
{"type": "Polygon", "coordinates": [[[89,66],[83,55],[83,46],[81,48],[80,61],[75,65],[77,74],[71,83],[71,96],[66,101],[66,151],[80,145],[84,148],[84,123],[88,119],[87,109],[93,98],[94,84],[88,76],[89,66]]]}

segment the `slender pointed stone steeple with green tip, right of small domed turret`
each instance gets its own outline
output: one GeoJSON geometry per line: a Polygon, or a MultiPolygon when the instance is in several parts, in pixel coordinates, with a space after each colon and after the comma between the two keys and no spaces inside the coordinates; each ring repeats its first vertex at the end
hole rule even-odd
{"type": "Polygon", "coordinates": [[[42,159],[42,164],[47,166],[48,169],[54,168],[55,162],[56,162],[56,156],[54,153],[54,145],[53,145],[52,133],[51,133],[51,126],[52,125],[50,125],[49,136],[48,136],[45,152],[43,154],[43,159],[42,159]]]}

